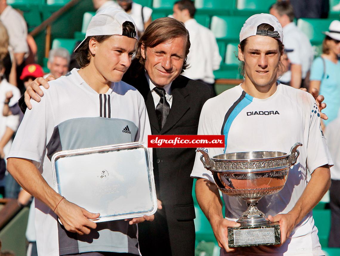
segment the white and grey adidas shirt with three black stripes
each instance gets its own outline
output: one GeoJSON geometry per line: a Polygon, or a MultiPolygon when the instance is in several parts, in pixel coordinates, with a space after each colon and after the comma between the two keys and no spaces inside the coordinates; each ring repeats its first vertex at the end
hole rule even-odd
{"type": "MultiPolygon", "coordinates": [[[[151,134],[148,113],[136,88],[120,81],[98,94],[77,69],[49,85],[48,90],[40,87],[44,97],[39,103],[31,100],[32,109],[26,111],[8,157],[32,160],[52,188],[51,157],[55,152],[147,142],[151,134]]],[[[124,220],[101,222],[89,235],[80,236],[67,232],[41,201],[35,199],[35,207],[39,255],[96,251],[140,255],[136,224],[124,220]]]]}

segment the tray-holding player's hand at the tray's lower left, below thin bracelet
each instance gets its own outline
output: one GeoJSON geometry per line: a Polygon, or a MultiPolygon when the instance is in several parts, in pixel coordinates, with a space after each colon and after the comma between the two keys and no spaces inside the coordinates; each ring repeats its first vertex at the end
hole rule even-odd
{"type": "Polygon", "coordinates": [[[96,228],[97,224],[89,219],[96,219],[100,216],[99,213],[90,213],[65,198],[61,199],[55,213],[67,231],[79,235],[89,234],[91,228],[96,228]]]}

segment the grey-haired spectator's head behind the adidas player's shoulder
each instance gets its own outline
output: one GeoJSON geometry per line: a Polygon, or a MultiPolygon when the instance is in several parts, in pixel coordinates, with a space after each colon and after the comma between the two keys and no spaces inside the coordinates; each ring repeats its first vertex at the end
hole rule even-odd
{"type": "Polygon", "coordinates": [[[52,49],[48,55],[47,68],[50,73],[44,78],[53,75],[55,79],[66,75],[70,64],[70,53],[65,48],[52,49]]]}

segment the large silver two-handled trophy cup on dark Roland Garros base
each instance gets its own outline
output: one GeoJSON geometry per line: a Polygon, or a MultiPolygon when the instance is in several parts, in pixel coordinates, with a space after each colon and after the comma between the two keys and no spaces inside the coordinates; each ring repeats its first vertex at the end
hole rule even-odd
{"type": "Polygon", "coordinates": [[[242,198],[248,209],[237,220],[240,227],[228,227],[229,247],[279,244],[280,226],[270,223],[257,208],[263,196],[280,191],[287,180],[289,168],[299,157],[296,143],[290,152],[256,151],[220,154],[210,158],[202,148],[201,161],[212,172],[222,193],[242,198]]]}

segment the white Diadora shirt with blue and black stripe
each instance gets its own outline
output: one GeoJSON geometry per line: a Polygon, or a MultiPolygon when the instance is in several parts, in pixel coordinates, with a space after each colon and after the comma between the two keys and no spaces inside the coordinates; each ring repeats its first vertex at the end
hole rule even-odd
{"type": "MultiPolygon", "coordinates": [[[[290,168],[284,188],[263,197],[258,208],[268,215],[288,213],[307,186],[307,169],[332,164],[326,140],[320,128],[320,114],[314,98],[307,92],[279,84],[267,99],[258,99],[245,93],[241,85],[208,99],[204,104],[198,134],[225,135],[225,148],[207,148],[210,157],[245,151],[289,152],[301,142],[300,156],[290,168]]],[[[203,167],[200,152],[196,153],[191,177],[214,182],[211,172],[203,167]]],[[[225,216],[236,221],[246,210],[246,203],[223,194],[225,216]]],[[[314,225],[312,212],[293,229],[280,247],[256,246],[238,248],[235,254],[221,255],[324,255],[314,225]]]]}

